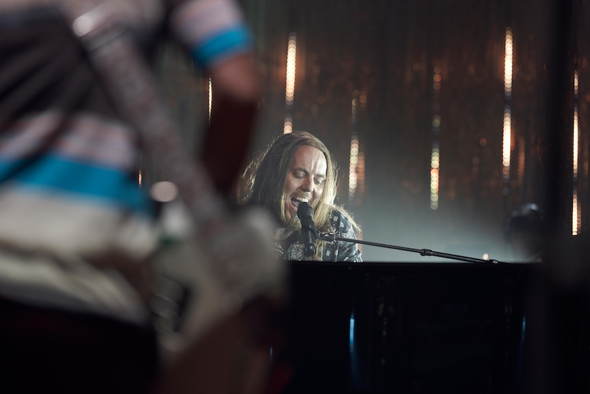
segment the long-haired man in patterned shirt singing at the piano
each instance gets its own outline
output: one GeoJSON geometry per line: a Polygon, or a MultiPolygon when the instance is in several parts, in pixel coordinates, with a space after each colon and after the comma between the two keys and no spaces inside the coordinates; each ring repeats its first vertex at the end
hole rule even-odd
{"type": "Polygon", "coordinates": [[[359,227],[344,208],[335,206],[337,169],[326,145],[308,132],[283,134],[255,158],[243,175],[241,204],[259,204],[283,224],[277,236],[277,254],[290,261],[361,262],[361,251],[352,241],[316,239],[316,251],[305,253],[301,238],[299,204],[313,208],[319,232],[356,239],[359,227]]]}

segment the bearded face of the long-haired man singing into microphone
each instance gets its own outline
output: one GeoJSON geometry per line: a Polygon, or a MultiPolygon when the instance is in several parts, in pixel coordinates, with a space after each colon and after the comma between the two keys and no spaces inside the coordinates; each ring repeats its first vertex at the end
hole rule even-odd
{"type": "Polygon", "coordinates": [[[307,202],[312,208],[316,208],[318,199],[324,192],[327,168],[326,157],[320,149],[308,145],[297,149],[283,189],[287,222],[297,216],[300,202],[307,202]]]}

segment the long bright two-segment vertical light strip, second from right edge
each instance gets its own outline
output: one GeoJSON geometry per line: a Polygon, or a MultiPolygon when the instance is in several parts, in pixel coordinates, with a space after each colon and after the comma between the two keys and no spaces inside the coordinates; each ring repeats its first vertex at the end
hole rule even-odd
{"type": "Polygon", "coordinates": [[[504,38],[504,121],[502,127],[502,178],[506,186],[504,195],[509,194],[510,182],[510,153],[512,138],[512,110],[510,99],[512,98],[512,71],[513,71],[513,36],[511,27],[506,27],[504,38]]]}

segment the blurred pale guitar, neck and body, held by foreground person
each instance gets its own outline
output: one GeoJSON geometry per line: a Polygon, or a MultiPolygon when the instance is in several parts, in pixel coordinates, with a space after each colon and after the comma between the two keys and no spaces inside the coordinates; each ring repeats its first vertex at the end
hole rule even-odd
{"type": "Polygon", "coordinates": [[[164,360],[172,362],[223,317],[283,291],[286,267],[274,256],[273,223],[257,208],[231,214],[223,204],[203,165],[185,150],[154,75],[110,1],[55,4],[112,99],[139,130],[146,153],[179,190],[179,201],[165,207],[163,220],[181,218],[185,231],[156,256],[152,302],[164,360]]]}

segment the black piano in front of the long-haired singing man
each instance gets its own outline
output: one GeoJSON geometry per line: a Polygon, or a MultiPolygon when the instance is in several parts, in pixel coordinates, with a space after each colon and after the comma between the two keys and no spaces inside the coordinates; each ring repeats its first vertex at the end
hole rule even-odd
{"type": "Polygon", "coordinates": [[[543,356],[525,346],[537,264],[290,264],[285,394],[524,393],[543,356]]]}

